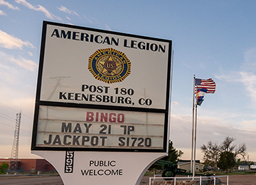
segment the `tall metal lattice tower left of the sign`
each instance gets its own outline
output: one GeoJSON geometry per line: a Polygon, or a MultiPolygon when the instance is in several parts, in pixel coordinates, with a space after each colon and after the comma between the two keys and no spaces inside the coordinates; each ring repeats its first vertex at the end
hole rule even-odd
{"type": "Polygon", "coordinates": [[[16,114],[16,125],[14,131],[14,144],[11,150],[9,172],[16,172],[18,168],[18,138],[21,126],[21,112],[16,114]]]}

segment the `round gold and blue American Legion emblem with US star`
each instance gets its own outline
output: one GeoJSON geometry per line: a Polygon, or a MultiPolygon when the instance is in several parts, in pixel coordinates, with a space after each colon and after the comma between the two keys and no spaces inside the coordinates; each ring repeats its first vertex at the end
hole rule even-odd
{"type": "Polygon", "coordinates": [[[100,49],[89,57],[88,69],[95,79],[107,84],[122,82],[131,72],[131,62],[124,52],[100,49]]]}

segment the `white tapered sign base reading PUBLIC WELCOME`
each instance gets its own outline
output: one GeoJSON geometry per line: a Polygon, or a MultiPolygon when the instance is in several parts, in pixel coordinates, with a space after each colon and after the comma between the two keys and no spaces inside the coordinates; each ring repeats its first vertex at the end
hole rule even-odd
{"type": "Polygon", "coordinates": [[[65,151],[32,153],[53,164],[65,185],[139,185],[151,164],[166,156],[166,153],[149,152],[74,152],[70,161],[65,151]],[[67,162],[72,170],[65,170],[67,162]]]}

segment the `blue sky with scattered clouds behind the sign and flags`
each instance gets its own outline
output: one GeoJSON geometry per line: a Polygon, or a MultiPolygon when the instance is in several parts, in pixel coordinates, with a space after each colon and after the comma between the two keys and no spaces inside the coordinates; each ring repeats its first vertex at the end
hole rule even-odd
{"type": "MultiPolygon", "coordinates": [[[[0,0],[0,157],[10,157],[21,111],[19,157],[30,154],[43,21],[173,41],[171,140],[191,156],[193,75],[215,94],[198,107],[196,158],[229,136],[256,161],[256,1],[0,0]]],[[[150,77],[150,76],[149,76],[150,77]]]]}

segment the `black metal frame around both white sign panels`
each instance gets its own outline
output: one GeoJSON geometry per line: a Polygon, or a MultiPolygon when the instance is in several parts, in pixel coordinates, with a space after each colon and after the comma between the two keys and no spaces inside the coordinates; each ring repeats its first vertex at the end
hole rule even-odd
{"type": "MultiPolygon", "coordinates": [[[[95,79],[97,80],[97,79],[95,79]]],[[[164,40],[159,38],[149,38],[140,35],[132,35],[127,33],[117,33],[109,30],[98,30],[95,28],[85,28],[80,26],[65,25],[62,23],[52,23],[48,21],[43,21],[43,32],[41,40],[41,55],[38,69],[38,83],[36,89],[36,103],[35,103],[35,113],[33,121],[33,135],[31,142],[31,150],[55,150],[55,151],[105,151],[105,152],[167,152],[168,140],[169,140],[169,113],[170,113],[170,101],[171,101],[171,40],[164,40]],[[46,52],[46,32],[48,26],[60,26],[70,29],[87,30],[95,33],[105,33],[112,35],[124,36],[126,38],[138,38],[153,40],[166,43],[168,47],[168,60],[167,62],[167,74],[166,74],[166,102],[164,108],[145,108],[145,107],[132,107],[132,106],[110,106],[110,105],[99,105],[93,103],[74,103],[74,102],[59,102],[59,101],[47,101],[46,99],[41,99],[41,88],[43,80],[43,65],[45,60],[46,52]],[[137,113],[160,113],[164,114],[164,136],[163,145],[161,149],[146,149],[146,148],[124,148],[124,147],[111,147],[111,148],[97,148],[97,147],[38,147],[36,146],[36,140],[38,138],[38,119],[41,106],[49,107],[65,107],[65,108],[90,108],[95,110],[112,110],[112,111],[134,111],[137,113]]]]}

